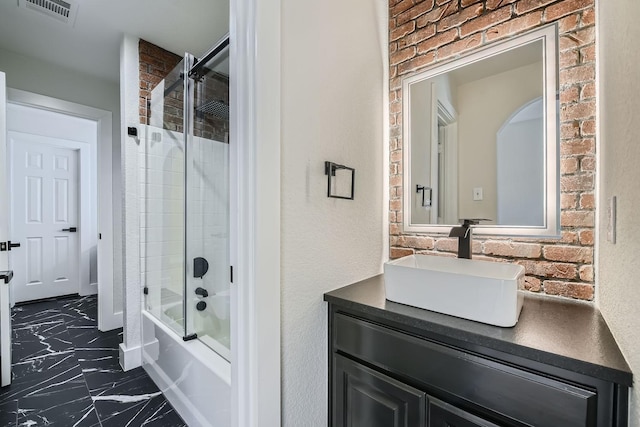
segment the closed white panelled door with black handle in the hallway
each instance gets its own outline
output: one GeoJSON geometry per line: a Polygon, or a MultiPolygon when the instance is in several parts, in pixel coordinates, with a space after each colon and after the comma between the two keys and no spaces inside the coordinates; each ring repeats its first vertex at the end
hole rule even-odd
{"type": "MultiPolygon", "coordinates": [[[[30,136],[30,135],[29,135],[30,136]]],[[[78,293],[78,153],[11,132],[16,302],[78,293]]]]}

